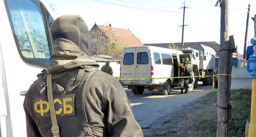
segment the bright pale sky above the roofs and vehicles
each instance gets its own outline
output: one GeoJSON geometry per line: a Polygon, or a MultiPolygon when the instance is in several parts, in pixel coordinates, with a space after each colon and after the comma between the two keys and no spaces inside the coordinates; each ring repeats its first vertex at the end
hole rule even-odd
{"type": "MultiPolygon", "coordinates": [[[[93,25],[129,29],[144,43],[181,42],[184,1],[131,0],[47,0],[55,6],[56,16],[78,14],[93,25]]],[[[215,41],[220,43],[220,7],[217,0],[185,1],[184,42],[215,41]]],[[[250,17],[256,14],[255,0],[229,1],[229,35],[234,35],[238,52],[243,54],[248,4],[250,17]]],[[[248,41],[253,38],[254,24],[249,20],[248,41]]]]}

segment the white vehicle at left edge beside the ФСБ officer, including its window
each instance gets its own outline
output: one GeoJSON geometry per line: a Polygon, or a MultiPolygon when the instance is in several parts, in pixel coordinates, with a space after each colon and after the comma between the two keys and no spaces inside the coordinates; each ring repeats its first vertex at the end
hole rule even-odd
{"type": "Polygon", "coordinates": [[[24,97],[51,63],[47,9],[38,0],[0,0],[0,136],[27,136],[24,97]]]}

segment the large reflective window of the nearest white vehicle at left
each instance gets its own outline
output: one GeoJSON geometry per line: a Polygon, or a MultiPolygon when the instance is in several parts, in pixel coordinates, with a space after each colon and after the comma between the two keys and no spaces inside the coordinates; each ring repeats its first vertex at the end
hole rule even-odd
{"type": "Polygon", "coordinates": [[[42,12],[38,1],[8,0],[7,12],[13,36],[20,57],[29,64],[46,67],[50,61],[51,39],[49,21],[52,17],[47,11],[42,12]],[[43,15],[44,14],[44,15],[43,15]],[[44,21],[45,19],[49,21],[44,21]]]}

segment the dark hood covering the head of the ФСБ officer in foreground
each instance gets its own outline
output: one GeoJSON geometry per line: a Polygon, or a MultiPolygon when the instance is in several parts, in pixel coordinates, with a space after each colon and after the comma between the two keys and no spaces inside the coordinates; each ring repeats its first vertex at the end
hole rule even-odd
{"type": "Polygon", "coordinates": [[[49,74],[74,69],[82,65],[99,64],[90,57],[91,39],[86,22],[79,15],[63,15],[51,26],[54,44],[48,66],[49,74]]]}

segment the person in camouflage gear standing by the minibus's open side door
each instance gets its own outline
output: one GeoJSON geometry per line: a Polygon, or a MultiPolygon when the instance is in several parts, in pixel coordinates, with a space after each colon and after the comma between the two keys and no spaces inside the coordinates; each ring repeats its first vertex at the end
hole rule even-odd
{"type": "MultiPolygon", "coordinates": [[[[187,57],[183,58],[183,59],[184,59],[184,63],[179,64],[179,66],[182,68],[181,77],[191,76],[191,70],[192,70],[191,62],[189,61],[189,59],[187,57]]],[[[180,94],[183,94],[184,87],[185,87],[185,92],[184,93],[187,93],[189,79],[191,79],[191,78],[181,78],[181,82],[180,82],[181,92],[180,92],[180,94]]]]}

